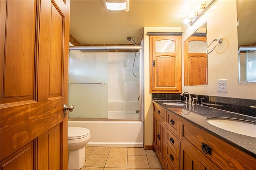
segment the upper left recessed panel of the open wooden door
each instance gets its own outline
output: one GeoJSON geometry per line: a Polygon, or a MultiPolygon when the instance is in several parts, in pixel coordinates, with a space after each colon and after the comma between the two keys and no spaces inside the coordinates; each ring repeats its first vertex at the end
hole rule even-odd
{"type": "Polygon", "coordinates": [[[1,104],[34,100],[37,6],[1,1],[1,104]]]}

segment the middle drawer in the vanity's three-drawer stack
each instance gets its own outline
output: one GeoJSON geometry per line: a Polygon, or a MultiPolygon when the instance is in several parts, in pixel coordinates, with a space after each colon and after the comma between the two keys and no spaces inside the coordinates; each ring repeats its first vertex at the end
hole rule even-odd
{"type": "Polygon", "coordinates": [[[168,128],[166,128],[166,143],[170,146],[174,154],[176,154],[176,156],[179,157],[180,141],[168,128]]]}

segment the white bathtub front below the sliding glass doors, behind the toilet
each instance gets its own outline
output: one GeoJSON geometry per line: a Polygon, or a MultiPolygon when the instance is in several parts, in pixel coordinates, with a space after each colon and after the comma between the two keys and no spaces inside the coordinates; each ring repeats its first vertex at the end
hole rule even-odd
{"type": "Polygon", "coordinates": [[[85,127],[91,138],[87,146],[143,147],[141,121],[68,121],[68,127],[85,127]]]}

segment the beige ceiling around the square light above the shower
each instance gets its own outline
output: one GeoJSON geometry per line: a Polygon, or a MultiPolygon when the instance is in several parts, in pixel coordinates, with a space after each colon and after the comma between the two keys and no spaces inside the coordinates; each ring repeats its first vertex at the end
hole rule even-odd
{"type": "Polygon", "coordinates": [[[70,34],[84,45],[140,43],[143,27],[181,27],[205,0],[130,0],[129,12],[106,12],[103,0],[71,0],[70,34]]]}

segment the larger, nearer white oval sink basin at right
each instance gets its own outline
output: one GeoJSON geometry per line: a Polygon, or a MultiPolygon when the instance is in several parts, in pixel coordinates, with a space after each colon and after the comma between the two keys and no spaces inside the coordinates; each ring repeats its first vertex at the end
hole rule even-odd
{"type": "Polygon", "coordinates": [[[256,123],[232,118],[212,117],[207,119],[208,123],[226,131],[256,137],[256,123]]]}

